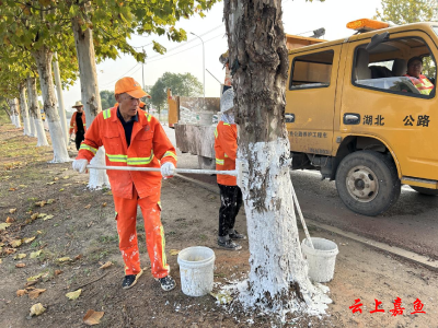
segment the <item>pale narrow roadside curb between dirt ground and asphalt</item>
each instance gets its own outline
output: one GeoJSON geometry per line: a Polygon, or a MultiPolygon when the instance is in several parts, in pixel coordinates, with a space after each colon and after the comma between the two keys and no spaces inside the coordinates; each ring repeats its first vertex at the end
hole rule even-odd
{"type": "MultiPolygon", "coordinates": [[[[209,190],[211,192],[219,194],[219,187],[217,187],[217,186],[212,186],[212,185],[209,185],[209,184],[206,184],[206,183],[201,183],[201,181],[198,181],[196,179],[193,179],[193,178],[189,178],[189,177],[186,177],[186,176],[182,176],[182,175],[178,175],[178,174],[176,175],[176,177],[178,177],[178,178],[181,178],[183,180],[189,181],[192,184],[198,185],[199,187],[201,187],[204,189],[207,189],[207,190],[209,190]]],[[[374,249],[387,251],[387,253],[389,253],[389,254],[391,254],[393,256],[396,256],[399,258],[402,258],[402,259],[408,260],[411,262],[414,262],[416,265],[420,265],[423,267],[426,267],[427,269],[430,269],[430,270],[434,270],[434,271],[438,271],[438,261],[430,260],[430,258],[428,258],[426,256],[416,254],[416,253],[411,251],[411,250],[405,250],[405,249],[402,249],[400,247],[391,246],[391,245],[388,245],[388,244],[384,244],[384,243],[376,242],[376,241],[372,241],[370,238],[366,238],[366,237],[359,236],[358,234],[355,234],[355,233],[351,233],[351,232],[345,232],[345,231],[342,231],[338,227],[331,226],[331,225],[327,225],[327,224],[324,224],[324,223],[320,223],[320,222],[315,222],[315,221],[310,220],[310,219],[306,219],[306,223],[308,225],[316,226],[316,227],[319,227],[321,230],[324,230],[324,231],[337,234],[339,236],[353,239],[353,241],[355,241],[357,243],[364,244],[364,245],[372,247],[374,249]]]]}

